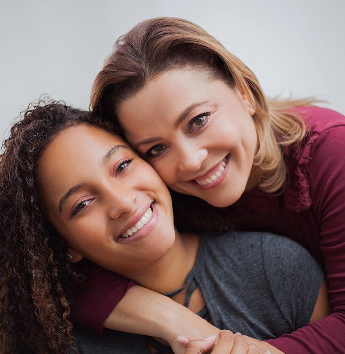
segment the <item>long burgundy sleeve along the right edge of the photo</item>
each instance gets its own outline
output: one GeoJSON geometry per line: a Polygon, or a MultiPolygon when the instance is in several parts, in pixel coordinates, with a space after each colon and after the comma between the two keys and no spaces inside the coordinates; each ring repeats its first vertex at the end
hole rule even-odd
{"type": "Polygon", "coordinates": [[[320,223],[332,313],[268,343],[286,354],[345,353],[345,126],[322,132],[309,162],[311,208],[320,223]]]}

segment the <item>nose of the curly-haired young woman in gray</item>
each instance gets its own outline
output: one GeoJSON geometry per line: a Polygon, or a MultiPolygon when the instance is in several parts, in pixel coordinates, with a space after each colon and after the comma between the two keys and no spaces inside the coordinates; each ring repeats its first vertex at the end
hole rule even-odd
{"type": "Polygon", "coordinates": [[[136,202],[137,195],[131,188],[121,185],[119,188],[112,186],[107,190],[106,204],[111,219],[118,219],[123,215],[131,214],[135,210],[136,202]]]}

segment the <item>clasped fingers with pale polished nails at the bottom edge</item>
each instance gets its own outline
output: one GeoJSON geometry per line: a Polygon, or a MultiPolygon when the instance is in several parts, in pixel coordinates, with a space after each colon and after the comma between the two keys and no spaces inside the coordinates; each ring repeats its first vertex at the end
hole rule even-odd
{"type": "MultiPolygon", "coordinates": [[[[190,337],[179,336],[179,341],[186,344],[185,354],[202,354],[211,351],[216,341],[216,336],[205,339],[192,339],[190,337]]],[[[271,354],[269,350],[262,351],[259,346],[248,343],[246,338],[240,333],[233,334],[230,331],[223,330],[216,346],[213,348],[213,354],[271,354]]]]}

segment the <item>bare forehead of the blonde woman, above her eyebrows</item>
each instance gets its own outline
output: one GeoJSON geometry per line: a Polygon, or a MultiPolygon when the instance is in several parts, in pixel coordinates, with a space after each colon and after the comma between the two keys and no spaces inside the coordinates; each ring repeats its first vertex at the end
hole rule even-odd
{"type": "Polygon", "coordinates": [[[140,91],[124,100],[117,115],[126,133],[139,134],[138,120],[150,122],[159,119],[176,119],[186,107],[219,95],[223,80],[215,79],[210,71],[190,66],[166,71],[150,80],[140,91]],[[134,125],[133,125],[134,124],[134,125]]]}

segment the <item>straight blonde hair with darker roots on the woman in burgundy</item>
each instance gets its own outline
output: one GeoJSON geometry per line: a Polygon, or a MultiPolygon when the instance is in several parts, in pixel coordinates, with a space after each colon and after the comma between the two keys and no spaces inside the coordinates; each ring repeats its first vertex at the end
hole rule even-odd
{"type": "Polygon", "coordinates": [[[114,51],[93,83],[90,108],[117,124],[117,107],[153,77],[188,64],[207,69],[251,101],[258,136],[253,165],[260,175],[259,188],[280,194],[286,183],[282,147],[300,142],[306,132],[293,107],[315,100],[267,101],[254,73],[201,27],[183,19],[160,17],[143,21],[120,37],[114,51]]]}

